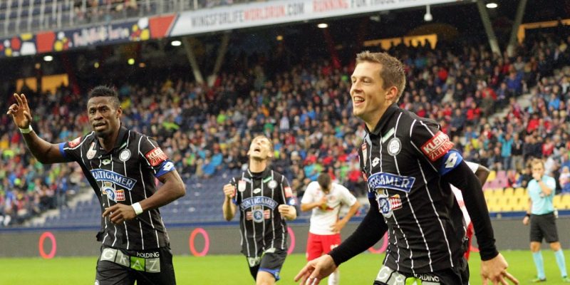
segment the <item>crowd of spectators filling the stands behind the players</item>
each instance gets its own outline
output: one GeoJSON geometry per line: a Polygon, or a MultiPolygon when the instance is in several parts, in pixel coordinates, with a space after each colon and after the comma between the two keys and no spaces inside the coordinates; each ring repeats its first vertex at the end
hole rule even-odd
{"type": "MultiPolygon", "coordinates": [[[[388,52],[407,68],[400,106],[440,123],[466,160],[507,171],[510,185],[522,185],[529,157],[545,158],[557,188],[569,192],[569,44],[561,34],[529,34],[510,57],[468,41],[388,52]],[[525,108],[517,103],[523,94],[531,100],[525,108]],[[494,115],[505,108],[506,115],[494,115]]],[[[210,179],[244,167],[248,142],[264,133],[274,142],[272,167],[299,195],[322,171],[363,195],[356,150],[364,127],[351,115],[352,69],[351,63],[334,68],[325,59],[304,59],[282,72],[258,63],[222,73],[211,88],[183,79],[117,87],[123,122],[155,136],[183,178],[210,179]]],[[[33,127],[42,138],[62,142],[90,130],[86,96],[65,87],[56,94],[23,93],[33,96],[33,127]]],[[[2,226],[66,207],[65,198],[83,183],[76,167],[33,160],[9,120],[0,117],[2,226]]]]}

